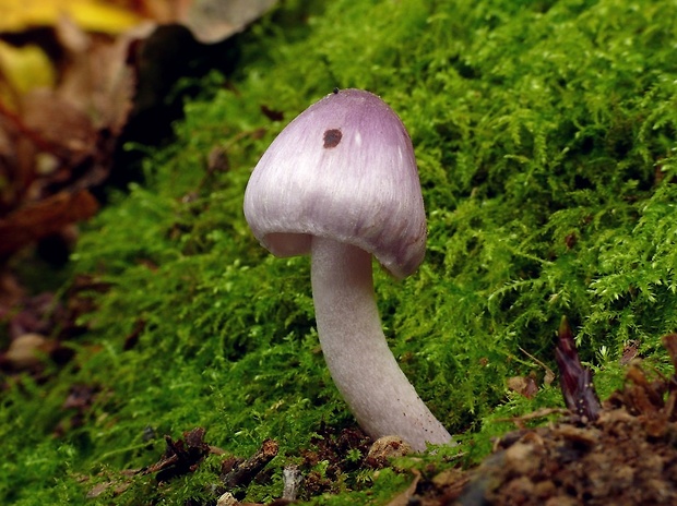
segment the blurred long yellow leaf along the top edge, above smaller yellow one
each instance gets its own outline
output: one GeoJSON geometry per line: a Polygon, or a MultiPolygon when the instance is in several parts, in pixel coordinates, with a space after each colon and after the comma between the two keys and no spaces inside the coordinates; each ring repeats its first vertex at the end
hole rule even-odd
{"type": "Polygon", "coordinates": [[[117,34],[142,17],[103,0],[2,0],[0,32],[22,32],[32,26],[52,26],[68,15],[85,31],[117,34]]]}

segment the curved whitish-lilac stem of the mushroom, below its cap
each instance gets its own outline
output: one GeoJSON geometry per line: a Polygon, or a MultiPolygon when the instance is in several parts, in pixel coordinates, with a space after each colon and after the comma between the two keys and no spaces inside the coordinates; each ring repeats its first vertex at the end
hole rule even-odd
{"type": "Polygon", "coordinates": [[[371,255],[312,238],[312,298],[318,334],[334,383],[359,425],[375,439],[399,435],[415,450],[451,435],[408,382],[381,329],[371,255]]]}

